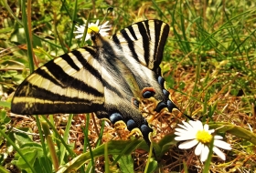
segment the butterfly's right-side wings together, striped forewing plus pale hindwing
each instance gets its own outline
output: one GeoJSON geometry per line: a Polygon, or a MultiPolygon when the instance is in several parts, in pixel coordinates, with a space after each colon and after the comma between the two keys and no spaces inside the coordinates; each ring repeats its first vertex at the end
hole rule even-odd
{"type": "Polygon", "coordinates": [[[125,55],[120,56],[120,59],[131,69],[140,91],[146,87],[154,88],[155,93],[151,95],[158,100],[157,112],[164,107],[170,111],[176,107],[165,89],[165,79],[159,67],[168,33],[169,25],[164,22],[146,20],[130,25],[112,36],[113,42],[120,46],[125,55]]]}

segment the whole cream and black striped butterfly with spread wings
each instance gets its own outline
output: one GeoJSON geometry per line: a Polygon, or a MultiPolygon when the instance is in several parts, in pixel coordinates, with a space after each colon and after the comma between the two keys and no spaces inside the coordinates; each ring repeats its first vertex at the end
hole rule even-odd
{"type": "Polygon", "coordinates": [[[161,111],[176,105],[159,67],[169,26],[159,20],[130,25],[110,39],[92,32],[84,46],[39,67],[16,89],[11,111],[22,115],[90,113],[138,128],[148,145],[153,129],[140,109],[154,97],[161,111]]]}

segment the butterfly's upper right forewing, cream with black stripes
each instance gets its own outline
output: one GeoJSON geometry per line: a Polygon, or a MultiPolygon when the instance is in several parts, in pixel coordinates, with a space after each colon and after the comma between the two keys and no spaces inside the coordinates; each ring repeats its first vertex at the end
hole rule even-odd
{"type": "Polygon", "coordinates": [[[112,36],[120,45],[128,61],[137,61],[149,69],[155,70],[163,58],[165,42],[169,34],[169,25],[160,20],[146,20],[130,25],[112,36]]]}

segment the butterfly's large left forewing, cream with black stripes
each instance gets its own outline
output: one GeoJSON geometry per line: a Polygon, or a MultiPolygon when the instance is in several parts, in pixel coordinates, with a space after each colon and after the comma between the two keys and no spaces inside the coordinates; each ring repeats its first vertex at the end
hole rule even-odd
{"type": "Polygon", "coordinates": [[[96,51],[86,46],[39,67],[17,87],[11,111],[32,115],[101,109],[104,88],[96,51]]]}

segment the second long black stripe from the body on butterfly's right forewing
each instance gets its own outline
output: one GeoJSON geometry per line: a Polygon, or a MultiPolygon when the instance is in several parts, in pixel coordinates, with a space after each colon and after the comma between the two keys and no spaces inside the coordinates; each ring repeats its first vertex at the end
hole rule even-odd
{"type": "MultiPolygon", "coordinates": [[[[140,31],[140,34],[143,36],[143,47],[144,47],[144,61],[146,63],[146,66],[148,66],[149,64],[149,41],[150,41],[150,38],[148,37],[148,32],[147,30],[145,29],[144,27],[144,23],[141,22],[141,23],[137,23],[138,27],[139,27],[139,31],[140,31]]],[[[155,28],[153,28],[155,29],[155,28]]]]}

